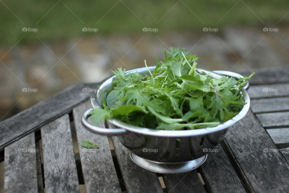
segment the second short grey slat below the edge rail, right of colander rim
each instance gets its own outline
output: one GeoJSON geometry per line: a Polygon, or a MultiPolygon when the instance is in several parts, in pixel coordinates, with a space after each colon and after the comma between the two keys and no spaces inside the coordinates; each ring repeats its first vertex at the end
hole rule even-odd
{"type": "Polygon", "coordinates": [[[254,113],[289,111],[289,97],[253,99],[251,109],[254,113]]]}

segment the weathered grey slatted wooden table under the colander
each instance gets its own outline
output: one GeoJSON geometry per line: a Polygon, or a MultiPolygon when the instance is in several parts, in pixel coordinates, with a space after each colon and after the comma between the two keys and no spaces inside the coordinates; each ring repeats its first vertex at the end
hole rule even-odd
{"type": "Polygon", "coordinates": [[[144,170],[117,138],[84,129],[80,118],[91,105],[83,88],[96,84],[69,87],[0,122],[5,192],[79,192],[83,184],[88,193],[289,192],[288,72],[257,71],[251,111],[200,168],[182,175],[144,170]],[[82,140],[101,148],[85,149],[82,140]]]}

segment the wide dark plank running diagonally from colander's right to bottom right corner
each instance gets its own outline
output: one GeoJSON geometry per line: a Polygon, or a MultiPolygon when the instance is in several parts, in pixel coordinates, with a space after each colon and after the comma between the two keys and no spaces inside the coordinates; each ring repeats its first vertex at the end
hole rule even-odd
{"type": "Polygon", "coordinates": [[[224,143],[250,192],[287,192],[289,165],[252,112],[230,128],[224,143]]]}

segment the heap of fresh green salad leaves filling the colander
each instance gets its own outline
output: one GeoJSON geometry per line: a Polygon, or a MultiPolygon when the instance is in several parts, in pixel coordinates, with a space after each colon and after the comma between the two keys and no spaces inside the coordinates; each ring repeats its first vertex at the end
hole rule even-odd
{"type": "MultiPolygon", "coordinates": [[[[147,74],[113,71],[113,90],[104,109],[91,112],[92,124],[119,119],[138,127],[188,130],[214,127],[232,119],[244,106],[241,88],[253,76],[212,78],[196,70],[198,57],[185,49],[164,50],[163,61],[147,74]]],[[[106,101],[106,102],[105,102],[106,101]]]]}

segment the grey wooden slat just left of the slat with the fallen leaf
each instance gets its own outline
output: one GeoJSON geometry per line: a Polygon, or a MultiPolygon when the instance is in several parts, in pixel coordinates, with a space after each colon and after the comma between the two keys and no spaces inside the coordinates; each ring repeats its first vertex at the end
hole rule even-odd
{"type": "Polygon", "coordinates": [[[80,192],[69,116],[41,128],[45,192],[80,192]]]}

